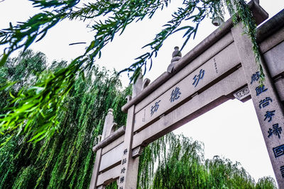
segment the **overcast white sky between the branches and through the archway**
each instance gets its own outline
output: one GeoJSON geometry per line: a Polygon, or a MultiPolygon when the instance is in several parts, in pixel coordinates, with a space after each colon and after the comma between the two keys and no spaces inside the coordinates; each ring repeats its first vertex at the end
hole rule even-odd
{"type": "MultiPolygon", "coordinates": [[[[141,47],[151,42],[162,25],[170,20],[171,13],[178,6],[176,2],[180,1],[172,1],[167,11],[156,14],[151,21],[145,19],[126,28],[123,35],[115,38],[114,42],[104,48],[102,59],[99,59],[97,64],[108,69],[115,68],[118,71],[128,67],[134,58],[145,52],[141,50],[141,47]]],[[[283,0],[261,0],[260,4],[270,17],[284,8],[283,0]]],[[[8,28],[9,22],[26,21],[28,16],[33,16],[34,13],[35,10],[30,1],[2,1],[0,2],[0,28],[8,28]]],[[[93,38],[93,33],[86,28],[87,24],[79,21],[63,21],[52,28],[43,40],[31,45],[31,48],[44,52],[50,62],[53,59],[74,59],[82,55],[85,45],[70,46],[69,44],[89,42],[93,38]]],[[[209,20],[204,21],[199,27],[195,40],[187,43],[182,55],[189,52],[215,29],[209,20]]],[[[146,74],[151,81],[166,71],[173,47],[182,46],[182,35],[183,33],[178,33],[170,36],[164,43],[158,57],[153,60],[151,71],[146,74]]],[[[0,51],[2,50],[3,47],[0,46],[0,51]]],[[[13,56],[16,56],[16,53],[13,56]]],[[[121,79],[124,86],[129,83],[127,74],[123,74],[121,79]]],[[[175,130],[175,134],[180,133],[204,142],[205,158],[212,159],[213,156],[219,155],[231,161],[239,161],[256,181],[262,176],[275,178],[251,101],[241,103],[233,100],[219,105],[200,118],[175,130]]]]}

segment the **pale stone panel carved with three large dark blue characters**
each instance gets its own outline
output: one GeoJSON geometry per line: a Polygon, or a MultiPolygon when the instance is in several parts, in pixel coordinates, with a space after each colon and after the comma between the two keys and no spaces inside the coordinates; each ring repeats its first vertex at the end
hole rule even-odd
{"type": "MultiPolygon", "coordinates": [[[[231,43],[197,69],[189,69],[185,78],[182,79],[182,76],[178,75],[181,80],[177,84],[171,86],[170,81],[165,82],[163,87],[168,88],[168,91],[165,91],[136,113],[134,132],[142,130],[144,126],[159,118],[160,115],[174,109],[175,105],[188,100],[187,98],[191,98],[190,96],[195,93],[206,90],[206,88],[224,78],[226,74],[236,70],[240,60],[235,52],[236,48],[231,43]]],[[[175,78],[173,77],[173,79],[175,78]]]]}

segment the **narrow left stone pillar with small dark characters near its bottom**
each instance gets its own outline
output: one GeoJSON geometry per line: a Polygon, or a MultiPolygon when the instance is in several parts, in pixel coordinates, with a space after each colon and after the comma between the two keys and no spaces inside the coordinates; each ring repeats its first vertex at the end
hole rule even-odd
{"type": "Polygon", "coordinates": [[[119,176],[119,189],[136,189],[139,157],[132,157],[132,139],[134,123],[134,105],[127,113],[126,131],[124,135],[124,154],[121,161],[121,175],[119,176]]]}

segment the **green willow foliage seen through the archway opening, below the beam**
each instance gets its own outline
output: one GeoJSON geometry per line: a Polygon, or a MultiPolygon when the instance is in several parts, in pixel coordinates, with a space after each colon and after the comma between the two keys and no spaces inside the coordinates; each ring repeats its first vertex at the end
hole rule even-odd
{"type": "Polygon", "coordinates": [[[238,162],[204,159],[201,142],[173,133],[145,149],[138,181],[138,188],[276,188],[271,177],[256,183],[238,162]]]}

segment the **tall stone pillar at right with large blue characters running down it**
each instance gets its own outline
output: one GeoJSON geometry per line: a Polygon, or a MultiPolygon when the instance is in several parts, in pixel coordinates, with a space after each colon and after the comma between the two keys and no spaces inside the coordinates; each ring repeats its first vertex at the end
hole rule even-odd
{"type": "MultiPolygon", "coordinates": [[[[242,23],[231,28],[231,33],[234,38],[236,50],[241,59],[241,65],[249,86],[249,91],[251,91],[251,99],[254,108],[256,109],[258,122],[261,126],[261,131],[266,142],[266,148],[271,159],[278,186],[279,188],[284,188],[283,106],[280,103],[278,93],[273,86],[271,76],[266,69],[263,59],[261,59],[261,64],[263,65],[265,81],[263,82],[263,85],[259,83],[260,71],[252,50],[251,39],[249,39],[248,35],[243,34],[244,30],[242,23]]],[[[253,158],[257,159],[257,157],[253,158]]]]}

